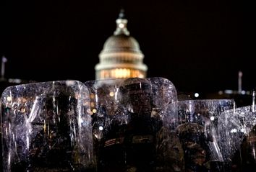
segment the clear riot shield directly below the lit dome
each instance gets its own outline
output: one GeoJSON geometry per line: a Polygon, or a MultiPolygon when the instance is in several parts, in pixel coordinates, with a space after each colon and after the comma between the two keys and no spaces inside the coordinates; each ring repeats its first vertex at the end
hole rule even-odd
{"type": "Polygon", "coordinates": [[[128,78],[88,81],[85,85],[92,98],[98,171],[182,169],[182,151],[173,155],[176,147],[171,146],[171,126],[177,119],[176,89],[171,81],[128,78]]]}

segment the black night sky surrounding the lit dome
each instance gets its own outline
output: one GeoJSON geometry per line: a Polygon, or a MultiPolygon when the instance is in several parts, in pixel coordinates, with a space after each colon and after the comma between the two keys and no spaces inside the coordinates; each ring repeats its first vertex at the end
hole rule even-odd
{"type": "Polygon", "coordinates": [[[6,78],[95,79],[119,10],[140,44],[148,77],[177,91],[256,87],[256,9],[247,1],[1,1],[6,78]]]}

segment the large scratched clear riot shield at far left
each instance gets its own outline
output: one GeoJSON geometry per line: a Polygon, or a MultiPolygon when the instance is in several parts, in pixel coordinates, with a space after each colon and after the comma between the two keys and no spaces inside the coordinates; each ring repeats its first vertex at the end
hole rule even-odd
{"type": "Polygon", "coordinates": [[[93,170],[90,96],[83,83],[11,86],[1,104],[4,171],[93,170]]]}

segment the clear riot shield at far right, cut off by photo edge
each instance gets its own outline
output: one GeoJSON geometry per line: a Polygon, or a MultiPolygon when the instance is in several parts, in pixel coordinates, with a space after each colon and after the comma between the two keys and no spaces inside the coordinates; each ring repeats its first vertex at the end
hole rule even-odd
{"type": "Polygon", "coordinates": [[[231,171],[255,171],[255,110],[252,106],[239,107],[223,112],[219,119],[223,158],[231,171]]]}

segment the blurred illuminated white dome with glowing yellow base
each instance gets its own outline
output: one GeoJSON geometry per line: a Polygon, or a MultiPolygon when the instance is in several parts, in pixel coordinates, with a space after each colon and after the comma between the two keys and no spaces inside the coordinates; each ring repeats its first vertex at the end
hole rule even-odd
{"type": "Polygon", "coordinates": [[[129,36],[127,22],[121,11],[114,35],[108,37],[99,54],[100,63],[95,65],[96,79],[146,77],[148,67],[143,64],[144,55],[137,40],[129,36]]]}

